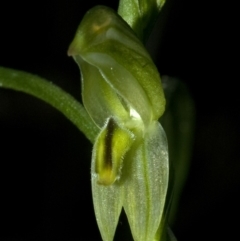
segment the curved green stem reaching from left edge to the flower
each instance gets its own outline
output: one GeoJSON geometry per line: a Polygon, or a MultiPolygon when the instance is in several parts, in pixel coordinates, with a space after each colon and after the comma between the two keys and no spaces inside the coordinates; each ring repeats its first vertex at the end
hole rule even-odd
{"type": "Polygon", "coordinates": [[[53,83],[23,71],[0,67],[0,87],[31,94],[61,111],[93,143],[99,129],[84,107],[53,83]]]}

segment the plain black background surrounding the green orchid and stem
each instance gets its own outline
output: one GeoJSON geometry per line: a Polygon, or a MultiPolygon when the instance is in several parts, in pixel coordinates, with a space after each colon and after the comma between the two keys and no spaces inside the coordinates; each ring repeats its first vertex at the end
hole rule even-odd
{"type": "MultiPolygon", "coordinates": [[[[0,65],[45,77],[80,100],[66,52],[84,13],[117,1],[3,1],[0,65]]],[[[239,107],[234,6],[167,0],[151,46],[161,74],[196,107],[190,172],[173,231],[179,241],[239,236],[239,107]],[[158,32],[158,31],[157,31],[158,32]]],[[[90,187],[91,144],[61,113],[0,89],[0,240],[101,240],[90,187]]],[[[116,240],[127,227],[121,218],[116,240]]]]}

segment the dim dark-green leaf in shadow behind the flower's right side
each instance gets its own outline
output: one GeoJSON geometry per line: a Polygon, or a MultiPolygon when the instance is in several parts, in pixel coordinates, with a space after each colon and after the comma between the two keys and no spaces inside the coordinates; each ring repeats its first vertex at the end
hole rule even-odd
{"type": "Polygon", "coordinates": [[[174,172],[174,198],[169,224],[176,217],[179,198],[185,184],[193,147],[196,110],[187,86],[180,80],[163,76],[167,107],[161,123],[167,133],[174,172]]]}

